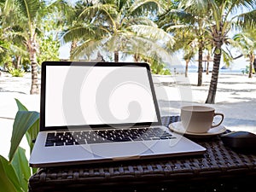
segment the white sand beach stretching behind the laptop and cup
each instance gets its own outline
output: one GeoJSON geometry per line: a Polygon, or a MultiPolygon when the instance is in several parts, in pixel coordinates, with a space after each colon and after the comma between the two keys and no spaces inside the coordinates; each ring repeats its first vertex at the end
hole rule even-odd
{"type": "MultiPolygon", "coordinates": [[[[28,110],[38,111],[39,95],[29,95],[31,74],[23,78],[10,77],[8,73],[0,76],[0,154],[8,157],[12,125],[17,112],[15,98],[28,110]]],[[[203,84],[197,86],[197,73],[172,76],[154,75],[154,86],[160,105],[160,113],[178,115],[183,105],[197,103],[204,105],[207,99],[211,73],[203,73],[203,84]]],[[[252,131],[256,133],[256,76],[248,79],[247,74],[220,73],[215,104],[207,104],[224,113],[223,125],[231,131],[252,131]]],[[[21,147],[28,148],[26,138],[21,147]]]]}

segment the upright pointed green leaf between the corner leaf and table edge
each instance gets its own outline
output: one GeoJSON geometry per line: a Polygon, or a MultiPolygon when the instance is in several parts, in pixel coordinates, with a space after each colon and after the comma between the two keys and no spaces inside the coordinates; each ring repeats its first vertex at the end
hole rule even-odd
{"type": "Polygon", "coordinates": [[[24,148],[18,147],[11,165],[14,167],[16,175],[19,178],[20,187],[23,191],[27,191],[27,183],[31,176],[31,169],[26,159],[26,150],[24,148]]]}

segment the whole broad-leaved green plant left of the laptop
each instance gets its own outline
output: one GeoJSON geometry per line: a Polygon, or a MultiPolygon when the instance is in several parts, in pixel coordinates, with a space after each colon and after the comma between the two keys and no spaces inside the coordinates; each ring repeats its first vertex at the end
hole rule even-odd
{"type": "Polygon", "coordinates": [[[0,191],[28,191],[29,177],[37,171],[29,166],[26,151],[20,148],[20,142],[26,136],[30,151],[32,151],[33,139],[39,131],[39,113],[28,111],[19,100],[15,101],[18,112],[13,125],[9,160],[0,155],[0,191]]]}

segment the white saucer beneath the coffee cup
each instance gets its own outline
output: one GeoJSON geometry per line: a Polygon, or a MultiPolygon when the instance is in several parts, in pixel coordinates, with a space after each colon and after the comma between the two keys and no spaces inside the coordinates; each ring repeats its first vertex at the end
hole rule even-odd
{"type": "Polygon", "coordinates": [[[224,133],[224,131],[226,131],[226,128],[224,127],[224,125],[218,125],[217,127],[214,127],[204,133],[189,132],[184,129],[184,127],[180,121],[170,124],[169,128],[171,131],[174,131],[174,132],[177,132],[180,134],[186,134],[188,136],[195,136],[195,137],[216,136],[216,135],[219,135],[221,133],[224,133]]]}

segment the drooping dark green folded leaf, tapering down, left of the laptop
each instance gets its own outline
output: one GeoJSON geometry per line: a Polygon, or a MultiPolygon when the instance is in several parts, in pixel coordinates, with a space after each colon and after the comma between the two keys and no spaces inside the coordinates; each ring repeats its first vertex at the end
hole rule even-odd
{"type": "MultiPolygon", "coordinates": [[[[18,111],[15,116],[11,146],[9,150],[9,160],[13,160],[15,151],[20,145],[22,137],[35,124],[38,124],[39,113],[34,111],[18,111]]],[[[30,144],[30,143],[29,143],[30,144]]]]}

